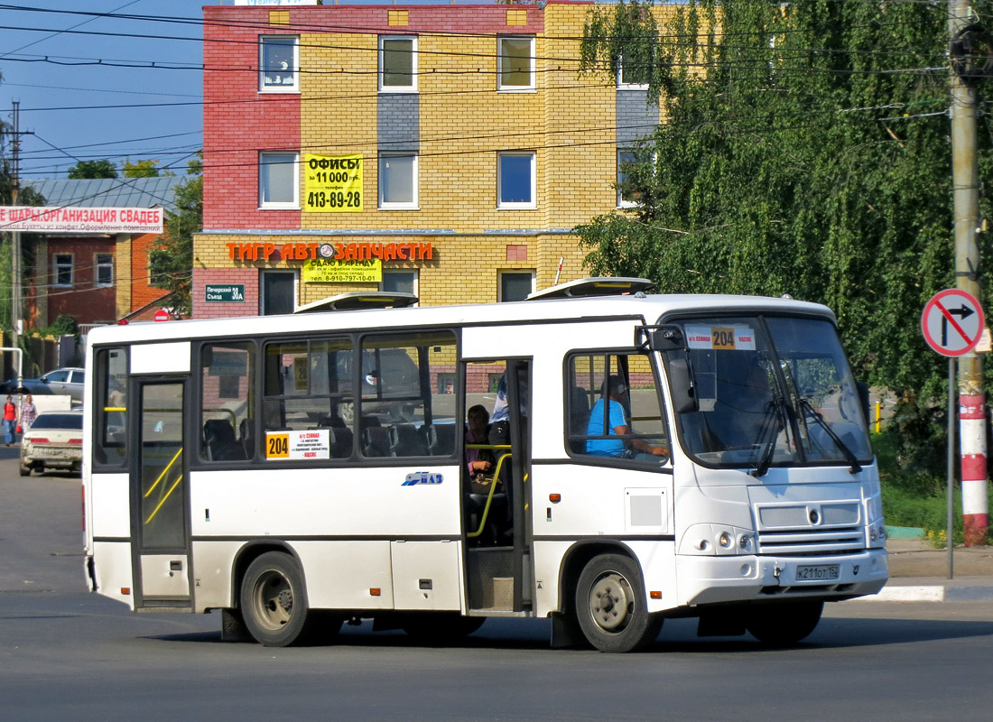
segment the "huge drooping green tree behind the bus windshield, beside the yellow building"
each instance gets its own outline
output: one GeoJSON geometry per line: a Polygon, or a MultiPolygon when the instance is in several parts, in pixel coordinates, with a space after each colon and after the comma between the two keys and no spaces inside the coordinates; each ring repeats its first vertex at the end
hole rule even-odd
{"type": "Polygon", "coordinates": [[[578,228],[589,268],[664,292],[825,303],[864,380],[939,396],[946,365],[920,316],[954,284],[946,8],[691,0],[672,13],[659,33],[645,5],[590,11],[584,72],[613,78],[637,55],[666,113],[626,169],[640,206],[578,228]]]}

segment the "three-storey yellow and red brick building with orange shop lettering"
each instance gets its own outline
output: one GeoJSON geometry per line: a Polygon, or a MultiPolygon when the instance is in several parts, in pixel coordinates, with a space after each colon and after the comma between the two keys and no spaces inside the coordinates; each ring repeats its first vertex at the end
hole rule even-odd
{"type": "Polygon", "coordinates": [[[570,231],[623,205],[619,152],[659,119],[643,87],[579,74],[593,7],[205,8],[194,315],[587,275],[570,231]]]}

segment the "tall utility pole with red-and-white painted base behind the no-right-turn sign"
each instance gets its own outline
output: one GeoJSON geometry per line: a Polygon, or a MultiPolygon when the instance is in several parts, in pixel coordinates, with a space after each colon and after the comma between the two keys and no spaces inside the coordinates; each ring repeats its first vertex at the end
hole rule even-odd
{"type": "MultiPolygon", "coordinates": [[[[948,0],[948,34],[951,39],[951,152],[954,189],[955,286],[979,297],[979,171],[976,161],[976,88],[979,75],[970,59],[970,32],[981,30],[971,0],[948,0]],[[956,43],[958,46],[956,48],[956,43]],[[956,62],[956,51],[962,62],[956,62]]],[[[985,543],[988,501],[986,494],[986,404],[982,361],[975,353],[958,361],[959,438],[962,464],[962,520],[965,545],[985,543]]],[[[948,539],[949,548],[952,543],[948,539]]]]}

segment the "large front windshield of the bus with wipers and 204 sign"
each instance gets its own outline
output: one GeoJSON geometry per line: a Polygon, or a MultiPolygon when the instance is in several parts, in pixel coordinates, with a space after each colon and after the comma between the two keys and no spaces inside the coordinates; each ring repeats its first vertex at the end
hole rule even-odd
{"type": "Polygon", "coordinates": [[[698,410],[679,415],[683,446],[705,466],[868,462],[858,391],[834,327],[795,317],[678,322],[698,410]]]}

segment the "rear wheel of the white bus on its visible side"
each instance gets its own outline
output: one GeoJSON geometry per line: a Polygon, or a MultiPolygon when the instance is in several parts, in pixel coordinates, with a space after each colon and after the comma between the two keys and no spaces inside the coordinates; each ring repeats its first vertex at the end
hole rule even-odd
{"type": "Polygon", "coordinates": [[[241,582],[241,616],[248,633],[264,647],[289,647],[304,641],[307,593],[297,560],[267,551],[245,571],[241,582]]]}

